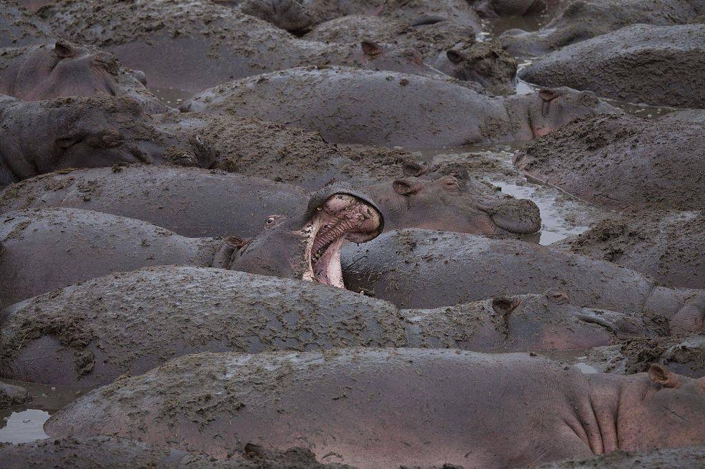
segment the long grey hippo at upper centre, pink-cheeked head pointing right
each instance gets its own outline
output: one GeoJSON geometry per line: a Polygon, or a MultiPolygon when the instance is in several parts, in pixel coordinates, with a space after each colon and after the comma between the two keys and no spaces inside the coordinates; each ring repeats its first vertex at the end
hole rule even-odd
{"type": "Polygon", "coordinates": [[[183,111],[242,115],[316,130],[331,142],[432,149],[529,140],[570,120],[620,112],[568,88],[489,97],[402,73],[293,68],[214,87],[183,111]]]}

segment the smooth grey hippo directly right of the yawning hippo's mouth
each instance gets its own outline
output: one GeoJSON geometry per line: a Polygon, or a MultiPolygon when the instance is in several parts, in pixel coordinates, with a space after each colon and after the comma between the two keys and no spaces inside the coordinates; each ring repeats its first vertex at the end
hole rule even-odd
{"type": "Polygon", "coordinates": [[[345,246],[341,263],[348,289],[404,308],[551,289],[576,306],[656,313],[674,331],[701,330],[705,315],[705,290],[661,287],[613,263],[512,239],[398,230],[345,246]]]}

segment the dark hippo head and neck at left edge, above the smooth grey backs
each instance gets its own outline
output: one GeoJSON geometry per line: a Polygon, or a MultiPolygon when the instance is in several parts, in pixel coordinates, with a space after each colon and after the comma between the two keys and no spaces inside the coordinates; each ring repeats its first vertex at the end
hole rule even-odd
{"type": "Polygon", "coordinates": [[[65,168],[116,163],[178,163],[165,155],[176,140],[130,98],[86,96],[20,101],[0,95],[0,186],[65,168]]]}

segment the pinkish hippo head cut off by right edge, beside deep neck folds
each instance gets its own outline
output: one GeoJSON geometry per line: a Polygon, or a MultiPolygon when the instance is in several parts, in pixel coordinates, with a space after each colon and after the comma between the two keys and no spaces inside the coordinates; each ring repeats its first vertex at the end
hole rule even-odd
{"type": "Polygon", "coordinates": [[[705,444],[705,377],[677,375],[653,364],[620,398],[620,449],[640,451],[705,444]]]}

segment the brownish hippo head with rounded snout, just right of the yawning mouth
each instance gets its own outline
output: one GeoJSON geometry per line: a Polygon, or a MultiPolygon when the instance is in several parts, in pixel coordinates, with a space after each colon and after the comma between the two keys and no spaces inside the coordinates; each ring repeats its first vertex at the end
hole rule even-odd
{"type": "MultiPolygon", "coordinates": [[[[405,173],[411,170],[405,168],[405,173]]],[[[417,227],[481,235],[524,235],[541,229],[539,208],[532,201],[491,199],[462,189],[455,176],[429,180],[416,177],[419,173],[365,187],[381,207],[388,229],[417,227]]]]}

